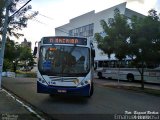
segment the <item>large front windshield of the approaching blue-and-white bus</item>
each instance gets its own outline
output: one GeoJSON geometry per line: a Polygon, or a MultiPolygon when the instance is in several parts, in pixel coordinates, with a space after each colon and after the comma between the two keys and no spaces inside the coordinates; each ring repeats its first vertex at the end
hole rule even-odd
{"type": "Polygon", "coordinates": [[[84,76],[90,70],[89,48],[78,46],[41,46],[38,69],[42,75],[84,76]]]}

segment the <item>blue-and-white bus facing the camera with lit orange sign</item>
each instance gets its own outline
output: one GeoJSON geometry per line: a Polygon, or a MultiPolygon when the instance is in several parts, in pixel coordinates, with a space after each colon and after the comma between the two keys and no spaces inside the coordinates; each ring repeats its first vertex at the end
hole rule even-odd
{"type": "Polygon", "coordinates": [[[92,96],[95,51],[90,40],[47,36],[36,49],[38,93],[92,96]]]}

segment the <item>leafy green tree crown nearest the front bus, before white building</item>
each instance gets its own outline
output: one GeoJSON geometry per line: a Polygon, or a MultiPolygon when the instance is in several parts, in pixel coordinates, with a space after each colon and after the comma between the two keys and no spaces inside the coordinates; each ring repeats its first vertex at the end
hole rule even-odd
{"type": "Polygon", "coordinates": [[[112,22],[107,24],[105,20],[101,20],[100,23],[106,36],[102,37],[99,33],[95,34],[98,48],[106,53],[108,58],[114,53],[117,59],[124,59],[127,52],[127,39],[130,35],[130,27],[127,24],[126,17],[116,14],[112,22]]]}

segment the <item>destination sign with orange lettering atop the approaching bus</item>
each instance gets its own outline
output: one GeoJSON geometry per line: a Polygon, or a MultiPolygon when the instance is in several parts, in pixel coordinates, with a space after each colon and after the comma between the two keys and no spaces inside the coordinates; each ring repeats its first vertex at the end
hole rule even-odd
{"type": "Polygon", "coordinates": [[[87,39],[78,37],[44,37],[43,44],[87,45],[87,39]]]}

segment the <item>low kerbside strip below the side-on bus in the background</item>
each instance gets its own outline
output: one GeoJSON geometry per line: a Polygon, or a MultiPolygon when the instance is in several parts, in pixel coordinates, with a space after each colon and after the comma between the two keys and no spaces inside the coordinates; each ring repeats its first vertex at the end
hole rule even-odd
{"type": "MultiPolygon", "coordinates": [[[[95,79],[94,81],[96,84],[102,86],[109,86],[109,87],[141,87],[141,83],[136,82],[128,82],[128,81],[119,81],[118,80],[108,80],[108,79],[95,79]]],[[[144,88],[153,89],[153,90],[160,90],[160,85],[154,85],[145,83],[144,88]]]]}

